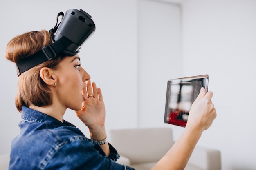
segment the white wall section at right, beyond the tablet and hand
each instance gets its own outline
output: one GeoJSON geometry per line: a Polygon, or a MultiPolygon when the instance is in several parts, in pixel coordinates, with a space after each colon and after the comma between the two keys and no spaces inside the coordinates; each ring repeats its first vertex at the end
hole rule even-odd
{"type": "Polygon", "coordinates": [[[185,0],[184,75],[209,74],[217,118],[200,145],[221,150],[223,170],[256,168],[256,1],[185,0]]]}

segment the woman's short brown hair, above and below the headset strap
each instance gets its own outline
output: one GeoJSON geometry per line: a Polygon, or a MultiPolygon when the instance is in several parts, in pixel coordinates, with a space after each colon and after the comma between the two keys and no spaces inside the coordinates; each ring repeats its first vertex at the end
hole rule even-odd
{"type": "MultiPolygon", "coordinates": [[[[11,62],[18,63],[40,51],[43,46],[51,44],[50,34],[46,30],[31,31],[14,37],[6,47],[5,57],[11,62]]],[[[15,97],[16,108],[21,112],[22,106],[48,106],[52,104],[52,91],[41,79],[39,72],[43,67],[58,68],[58,63],[63,60],[60,55],[53,60],[39,64],[18,77],[18,86],[15,97]]]]}

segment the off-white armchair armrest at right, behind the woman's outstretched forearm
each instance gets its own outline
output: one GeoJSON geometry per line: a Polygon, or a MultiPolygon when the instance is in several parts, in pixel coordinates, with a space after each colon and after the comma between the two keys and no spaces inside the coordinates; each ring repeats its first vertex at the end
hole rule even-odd
{"type": "Polygon", "coordinates": [[[221,170],[220,151],[202,146],[196,146],[188,163],[203,169],[221,170]]]}

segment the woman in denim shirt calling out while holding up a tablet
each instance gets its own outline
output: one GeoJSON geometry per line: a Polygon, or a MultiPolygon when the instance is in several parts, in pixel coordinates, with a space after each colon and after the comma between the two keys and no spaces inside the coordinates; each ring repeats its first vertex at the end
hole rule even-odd
{"type": "MultiPolygon", "coordinates": [[[[45,30],[27,32],[8,43],[6,58],[18,63],[51,43],[45,30]]],[[[153,170],[184,169],[202,132],[216,117],[212,96],[202,88],[184,132],[153,170]]],[[[10,170],[133,169],[115,162],[119,155],[106,139],[101,89],[91,84],[78,55],[60,54],[21,73],[15,102],[22,121],[20,134],[12,141],[10,170]],[[67,108],[75,110],[91,139],[63,120],[67,108]]]]}

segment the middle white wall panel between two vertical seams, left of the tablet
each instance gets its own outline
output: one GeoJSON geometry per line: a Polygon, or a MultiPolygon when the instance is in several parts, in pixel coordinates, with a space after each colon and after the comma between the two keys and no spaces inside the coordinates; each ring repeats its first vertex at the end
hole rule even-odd
{"type": "Polygon", "coordinates": [[[180,6],[139,0],[138,9],[138,127],[165,126],[167,81],[182,76],[180,6]]]}

